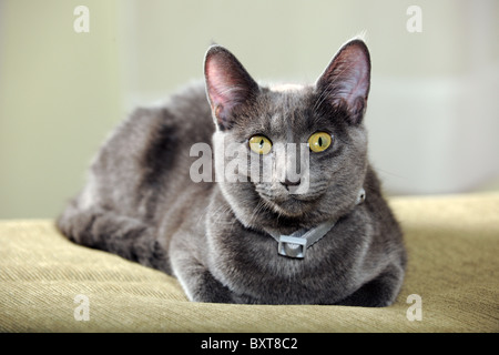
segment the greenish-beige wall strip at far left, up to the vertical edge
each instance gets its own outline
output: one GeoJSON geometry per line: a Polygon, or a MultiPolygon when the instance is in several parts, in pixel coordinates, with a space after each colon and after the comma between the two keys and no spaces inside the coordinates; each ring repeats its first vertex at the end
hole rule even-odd
{"type": "Polygon", "coordinates": [[[118,1],[1,2],[0,217],[54,216],[122,116],[118,1]]]}

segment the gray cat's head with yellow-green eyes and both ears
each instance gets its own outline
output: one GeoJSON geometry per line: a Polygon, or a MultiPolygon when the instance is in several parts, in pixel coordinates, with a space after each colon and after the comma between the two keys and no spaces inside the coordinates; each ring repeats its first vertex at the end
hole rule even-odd
{"type": "Polygon", "coordinates": [[[343,45],[313,85],[258,85],[221,45],[204,69],[217,181],[243,223],[268,213],[314,223],[355,204],[367,169],[370,59],[361,40],[343,45]]]}

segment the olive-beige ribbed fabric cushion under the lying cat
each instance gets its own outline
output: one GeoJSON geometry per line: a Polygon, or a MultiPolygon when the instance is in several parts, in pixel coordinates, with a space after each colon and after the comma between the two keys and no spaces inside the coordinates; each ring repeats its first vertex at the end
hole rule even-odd
{"type": "Polygon", "coordinates": [[[2,221],[0,331],[498,332],[499,194],[390,205],[409,262],[397,302],[385,308],[192,303],[175,278],[75,245],[53,221],[2,221]],[[409,321],[411,294],[421,300],[420,321],[409,321]]]}

